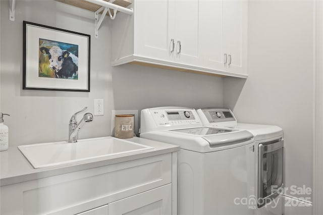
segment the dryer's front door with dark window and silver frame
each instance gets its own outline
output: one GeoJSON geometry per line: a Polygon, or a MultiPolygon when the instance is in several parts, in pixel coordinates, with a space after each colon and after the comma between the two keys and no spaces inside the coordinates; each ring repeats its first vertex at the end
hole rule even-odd
{"type": "Polygon", "coordinates": [[[258,145],[258,207],[279,195],[284,177],[283,138],[258,145]]]}

